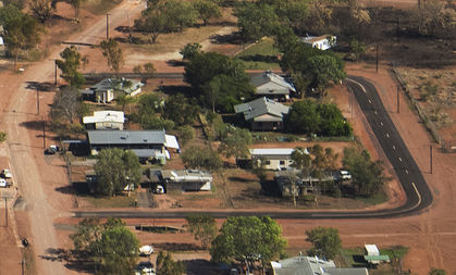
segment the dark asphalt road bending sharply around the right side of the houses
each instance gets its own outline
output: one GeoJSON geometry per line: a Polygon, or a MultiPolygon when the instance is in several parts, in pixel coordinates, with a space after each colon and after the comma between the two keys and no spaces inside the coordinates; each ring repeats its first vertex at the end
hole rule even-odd
{"type": "MultiPolygon", "coordinates": [[[[384,153],[396,172],[406,192],[406,202],[394,209],[377,211],[210,211],[214,217],[223,218],[233,215],[270,215],[273,218],[369,218],[396,217],[417,214],[432,203],[432,193],[399,133],[386,112],[375,87],[362,77],[349,76],[347,86],[353,90],[365,116],[379,140],[384,153]]],[[[185,217],[193,211],[95,211],[75,212],[76,217],[185,217]]]]}

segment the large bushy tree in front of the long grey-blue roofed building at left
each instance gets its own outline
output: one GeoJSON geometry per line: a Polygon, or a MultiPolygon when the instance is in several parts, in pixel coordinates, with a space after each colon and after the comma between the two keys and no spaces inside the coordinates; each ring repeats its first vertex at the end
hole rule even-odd
{"type": "Polygon", "coordinates": [[[121,193],[128,185],[137,186],[141,176],[138,157],[131,150],[103,149],[95,164],[96,191],[104,196],[121,193]]]}

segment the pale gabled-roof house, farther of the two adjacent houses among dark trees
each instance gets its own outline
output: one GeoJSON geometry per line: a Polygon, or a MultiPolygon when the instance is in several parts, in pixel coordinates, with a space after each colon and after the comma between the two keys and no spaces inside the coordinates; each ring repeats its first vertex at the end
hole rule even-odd
{"type": "Polygon", "coordinates": [[[266,71],[262,74],[252,75],[250,84],[255,88],[255,95],[268,98],[289,99],[291,92],[296,92],[295,87],[284,77],[266,71]]]}

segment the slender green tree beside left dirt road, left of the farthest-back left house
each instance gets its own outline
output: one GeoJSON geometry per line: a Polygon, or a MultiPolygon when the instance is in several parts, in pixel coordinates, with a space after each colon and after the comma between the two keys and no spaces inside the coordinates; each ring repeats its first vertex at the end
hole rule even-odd
{"type": "Polygon", "coordinates": [[[60,57],[62,60],[56,60],[56,64],[62,71],[62,78],[71,87],[79,88],[85,83],[85,78],[78,71],[87,64],[87,57],[83,57],[75,46],[65,48],[60,57]]]}

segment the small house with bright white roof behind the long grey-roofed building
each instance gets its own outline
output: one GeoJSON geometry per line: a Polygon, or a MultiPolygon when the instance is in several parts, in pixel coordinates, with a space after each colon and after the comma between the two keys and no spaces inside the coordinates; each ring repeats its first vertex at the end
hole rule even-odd
{"type": "Polygon", "coordinates": [[[87,129],[123,129],[125,116],[120,111],[95,111],[91,116],[84,116],[83,124],[87,129]]]}

